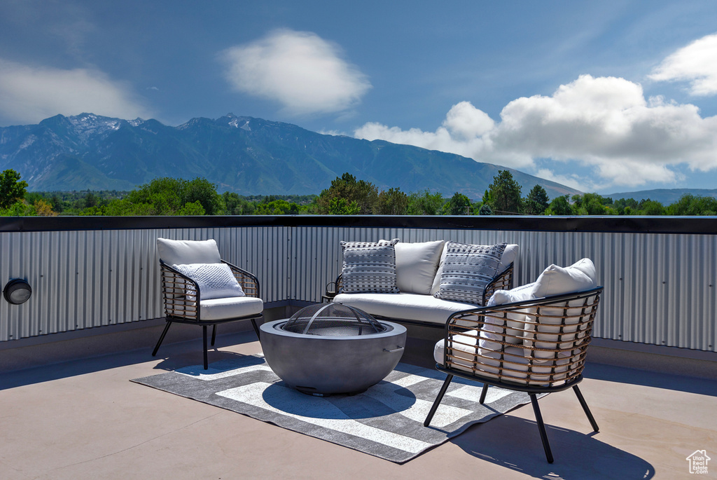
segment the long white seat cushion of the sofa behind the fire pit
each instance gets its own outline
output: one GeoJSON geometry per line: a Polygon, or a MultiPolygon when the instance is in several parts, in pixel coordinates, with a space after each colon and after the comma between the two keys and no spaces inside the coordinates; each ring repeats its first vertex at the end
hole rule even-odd
{"type": "Polygon", "coordinates": [[[457,311],[476,308],[470,303],[446,301],[417,293],[339,293],[333,301],[371,315],[435,324],[445,324],[448,316],[457,311]]]}

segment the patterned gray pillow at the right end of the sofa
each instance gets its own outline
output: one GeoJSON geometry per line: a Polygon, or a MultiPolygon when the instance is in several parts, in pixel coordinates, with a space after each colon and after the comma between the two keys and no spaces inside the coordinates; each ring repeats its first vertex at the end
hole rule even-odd
{"type": "Polygon", "coordinates": [[[462,303],[483,303],[485,286],[498,273],[505,243],[499,245],[469,245],[448,242],[446,260],[441,273],[441,286],[436,298],[462,303]]]}

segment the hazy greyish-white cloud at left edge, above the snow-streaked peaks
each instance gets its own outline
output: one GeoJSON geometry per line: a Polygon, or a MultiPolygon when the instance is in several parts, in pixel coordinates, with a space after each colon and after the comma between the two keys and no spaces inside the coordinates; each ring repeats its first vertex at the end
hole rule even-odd
{"type": "Polygon", "coordinates": [[[119,118],[148,118],[128,85],[99,70],[31,67],[0,59],[0,118],[37,123],[58,113],[83,112],[119,118]]]}

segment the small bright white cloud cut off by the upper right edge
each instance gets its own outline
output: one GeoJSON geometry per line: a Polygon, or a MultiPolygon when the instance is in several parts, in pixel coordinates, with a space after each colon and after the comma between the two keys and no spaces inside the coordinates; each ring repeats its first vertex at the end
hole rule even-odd
{"type": "Polygon", "coordinates": [[[650,79],[687,81],[692,95],[717,94],[717,34],[695,40],[665,58],[650,79]]]}

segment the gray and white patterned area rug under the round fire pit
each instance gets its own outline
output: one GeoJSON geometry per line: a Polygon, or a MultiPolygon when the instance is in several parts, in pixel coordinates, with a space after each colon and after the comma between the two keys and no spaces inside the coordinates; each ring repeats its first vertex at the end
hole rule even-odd
{"type": "Polygon", "coordinates": [[[396,463],[530,402],[526,393],[490,387],[480,405],[480,383],[454,377],[426,428],[423,421],[444,380],[437,370],[399,363],[385,380],[359,395],[313,397],[287,387],[257,355],[212,363],[209,370],[195,365],[132,382],[396,463]]]}

